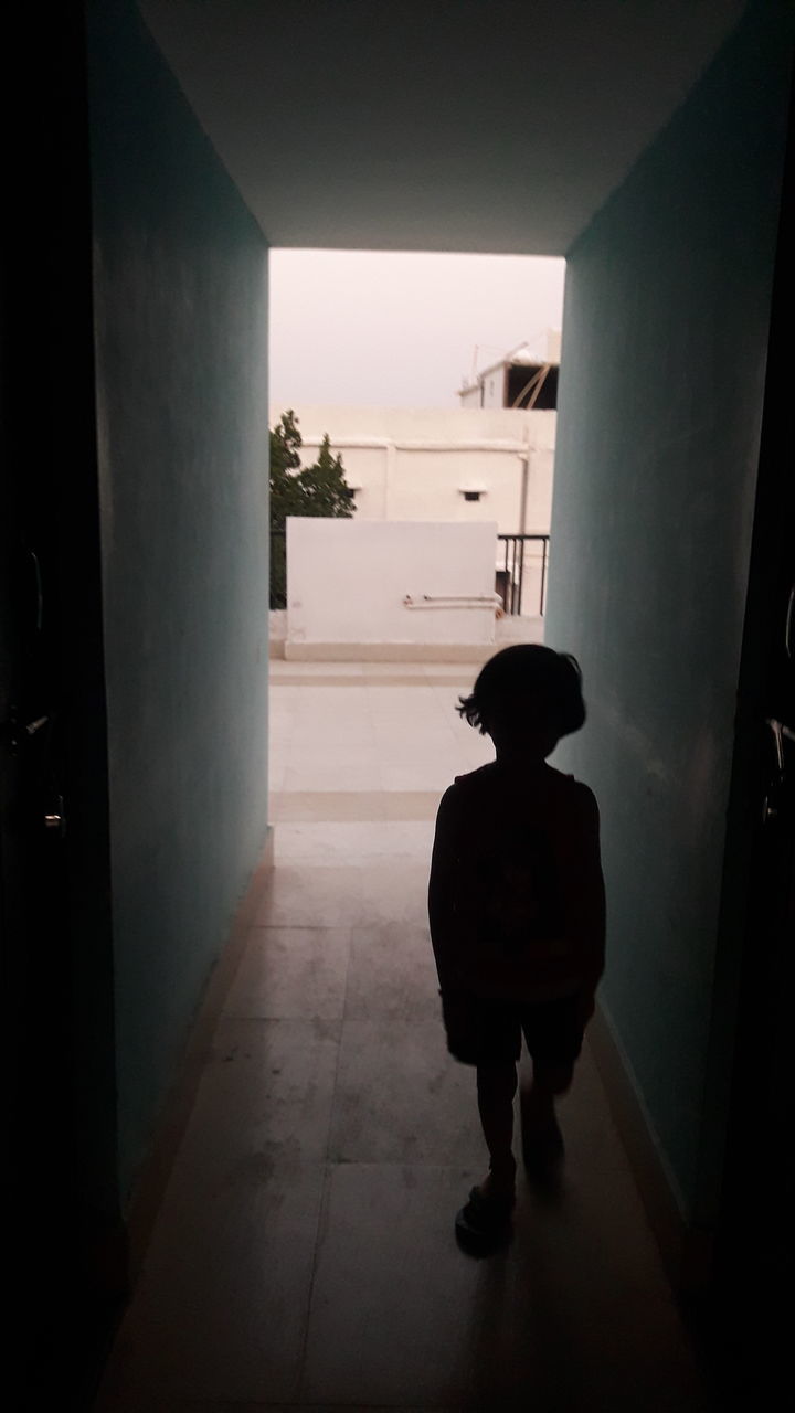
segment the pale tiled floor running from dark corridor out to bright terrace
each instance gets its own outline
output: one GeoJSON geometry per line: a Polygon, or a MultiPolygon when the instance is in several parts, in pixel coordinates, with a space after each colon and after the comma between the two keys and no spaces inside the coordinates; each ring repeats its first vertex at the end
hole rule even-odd
{"type": "Polygon", "coordinates": [[[273,664],[272,893],[229,992],[102,1413],[709,1406],[590,1057],[509,1249],[424,918],[439,794],[489,759],[461,667],[273,664]]]}

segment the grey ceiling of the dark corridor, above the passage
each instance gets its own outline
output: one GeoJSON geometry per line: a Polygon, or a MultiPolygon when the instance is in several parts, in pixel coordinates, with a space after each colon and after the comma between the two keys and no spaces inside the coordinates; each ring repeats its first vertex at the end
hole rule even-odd
{"type": "Polygon", "coordinates": [[[141,0],[273,246],[564,254],[744,0],[141,0]]]}

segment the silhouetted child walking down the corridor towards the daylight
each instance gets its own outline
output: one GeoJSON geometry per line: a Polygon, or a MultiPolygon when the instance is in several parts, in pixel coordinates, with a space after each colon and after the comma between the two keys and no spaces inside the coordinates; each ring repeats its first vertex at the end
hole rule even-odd
{"type": "Polygon", "coordinates": [[[477,1067],[489,1152],[488,1176],[455,1218],[461,1236],[509,1229],[522,1033],[533,1060],[525,1161],[547,1169],[563,1156],[555,1098],[571,1084],[604,966],[597,803],[546,764],[586,719],[580,684],[573,657],[522,644],[497,653],[460,699],[497,752],[441,800],[429,889],[447,1044],[477,1067]]]}

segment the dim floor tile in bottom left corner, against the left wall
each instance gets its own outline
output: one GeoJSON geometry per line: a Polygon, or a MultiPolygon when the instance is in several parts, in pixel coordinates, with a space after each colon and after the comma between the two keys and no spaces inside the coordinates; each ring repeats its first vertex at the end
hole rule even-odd
{"type": "MultiPolygon", "coordinates": [[[[178,1413],[187,1400],[290,1400],[303,1364],[323,1167],[181,1166],[96,1413],[178,1413]]],[[[201,1405],[199,1405],[201,1406],[201,1405]]]]}

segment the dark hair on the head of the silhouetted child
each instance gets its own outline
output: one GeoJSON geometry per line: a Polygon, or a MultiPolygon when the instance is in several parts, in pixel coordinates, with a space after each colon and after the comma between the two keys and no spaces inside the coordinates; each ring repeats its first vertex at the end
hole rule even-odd
{"type": "Polygon", "coordinates": [[[586,719],[581,682],[580,664],[570,653],[516,643],[489,657],[471,695],[458,698],[457,711],[484,735],[521,698],[536,722],[543,722],[557,738],[567,736],[586,719]]]}

